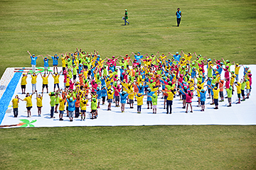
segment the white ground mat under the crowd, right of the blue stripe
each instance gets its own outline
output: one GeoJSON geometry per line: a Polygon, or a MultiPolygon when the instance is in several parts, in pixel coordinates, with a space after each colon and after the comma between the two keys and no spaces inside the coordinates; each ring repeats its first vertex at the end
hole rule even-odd
{"type": "MultiPolygon", "coordinates": [[[[206,99],[206,109],[201,112],[201,108],[196,107],[198,105],[197,96],[194,96],[192,106],[193,113],[185,113],[186,109],[182,109],[182,101],[179,101],[179,97],[174,98],[174,104],[172,106],[172,114],[166,114],[164,109],[164,99],[159,96],[157,105],[157,113],[153,114],[151,109],[147,109],[146,96],[144,97],[144,105],[142,106],[142,113],[137,113],[137,102],[134,101],[134,108],[129,108],[129,104],[125,105],[125,112],[121,113],[121,108],[116,108],[115,103],[112,103],[112,111],[107,111],[107,101],[104,106],[100,105],[98,109],[97,119],[90,119],[90,102],[87,106],[86,120],[80,121],[80,118],[74,118],[73,122],[69,121],[66,117],[66,112],[63,115],[63,121],[58,118],[58,113],[54,113],[55,118],[50,118],[50,97],[48,94],[43,94],[43,108],[42,116],[38,117],[36,107],[36,94],[33,95],[33,108],[31,108],[31,118],[27,118],[26,102],[20,101],[18,106],[18,118],[14,118],[13,109],[10,107],[6,111],[4,120],[1,125],[17,125],[21,123],[21,119],[36,120],[33,123],[35,127],[62,127],[62,126],[127,126],[127,125],[256,125],[256,81],[253,79],[253,74],[256,72],[256,65],[249,65],[252,71],[252,92],[250,99],[242,101],[240,104],[236,104],[238,96],[236,89],[232,98],[232,107],[228,106],[228,99],[225,98],[224,102],[219,102],[219,109],[213,109],[215,106],[210,105],[211,99],[206,99]]],[[[59,68],[60,70],[61,68],[59,68]]],[[[232,67],[231,70],[234,70],[232,67]]],[[[242,78],[243,68],[240,69],[240,79],[242,78]]],[[[224,73],[223,73],[224,74],[224,73]]],[[[223,76],[223,75],[222,75],[223,76]]],[[[53,91],[53,77],[49,77],[49,91],[53,91]]],[[[27,79],[26,92],[31,93],[31,77],[27,79]]],[[[14,93],[14,96],[18,94],[20,98],[25,98],[24,94],[21,94],[21,79],[18,82],[18,86],[14,93]]],[[[63,88],[63,76],[60,76],[60,86],[63,88]]],[[[37,90],[41,93],[42,79],[40,74],[37,78],[37,90]]],[[[45,89],[46,91],[46,89],[45,89]]],[[[225,90],[224,90],[225,91],[225,90]]],[[[195,93],[196,94],[196,93],[195,93]]],[[[226,93],[224,92],[225,96],[226,93]]],[[[14,98],[13,96],[13,98],[14,98]]],[[[207,95],[208,97],[208,95],[207,95]]],[[[14,126],[20,127],[20,126],[14,126]]]]}

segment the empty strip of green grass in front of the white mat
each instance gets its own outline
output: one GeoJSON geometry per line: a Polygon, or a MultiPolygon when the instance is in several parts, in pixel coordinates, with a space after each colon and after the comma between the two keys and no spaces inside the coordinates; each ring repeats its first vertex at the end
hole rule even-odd
{"type": "Polygon", "coordinates": [[[255,169],[255,126],[0,130],[1,169],[255,169]]]}

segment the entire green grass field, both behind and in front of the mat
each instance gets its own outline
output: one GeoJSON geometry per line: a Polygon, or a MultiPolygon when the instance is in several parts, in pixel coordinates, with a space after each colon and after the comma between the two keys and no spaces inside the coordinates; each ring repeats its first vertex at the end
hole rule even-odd
{"type": "MultiPolygon", "coordinates": [[[[256,2],[0,1],[0,77],[28,53],[197,52],[256,64],[256,2]],[[183,13],[176,27],[175,12],[183,13]],[[129,26],[122,26],[124,9],[129,26]]],[[[38,66],[43,60],[38,59],[38,66]]],[[[0,169],[256,169],[255,126],[0,130],[0,169]]]]}

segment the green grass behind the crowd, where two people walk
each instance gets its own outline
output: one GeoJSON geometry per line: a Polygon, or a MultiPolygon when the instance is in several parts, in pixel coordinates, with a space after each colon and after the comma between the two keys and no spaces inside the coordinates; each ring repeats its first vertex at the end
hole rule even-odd
{"type": "MultiPolygon", "coordinates": [[[[197,52],[255,64],[255,1],[0,1],[0,76],[36,55],[197,52]],[[176,27],[176,8],[183,13],[176,27]],[[124,9],[129,26],[121,26],[124,9]]],[[[43,59],[38,60],[43,66],[43,59]]]]}

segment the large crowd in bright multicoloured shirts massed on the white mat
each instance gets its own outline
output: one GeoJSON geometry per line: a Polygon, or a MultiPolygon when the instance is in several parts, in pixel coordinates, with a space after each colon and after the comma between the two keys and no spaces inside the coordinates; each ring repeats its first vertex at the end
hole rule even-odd
{"type": "Polygon", "coordinates": [[[131,55],[120,55],[119,57],[106,57],[104,60],[96,52],[85,52],[78,50],[74,53],[65,53],[50,56],[31,55],[31,65],[33,74],[31,74],[32,94],[26,93],[26,78],[28,73],[23,73],[21,78],[22,94],[26,98],[16,96],[13,99],[14,117],[18,115],[18,100],[26,101],[28,117],[31,116],[32,96],[36,94],[36,105],[38,116],[41,116],[43,107],[43,91],[47,91],[50,97],[50,118],[54,118],[53,113],[58,113],[59,118],[63,120],[64,111],[73,121],[81,117],[85,120],[85,113],[88,112],[87,106],[90,101],[89,112],[92,113],[91,119],[97,118],[97,108],[100,104],[107,102],[107,111],[111,107],[119,107],[124,112],[125,104],[129,108],[134,108],[134,101],[137,101],[137,113],[142,113],[143,98],[146,98],[147,109],[152,109],[156,114],[158,98],[164,98],[164,109],[166,113],[172,113],[172,105],[175,97],[183,101],[183,109],[186,113],[192,108],[192,98],[198,98],[198,107],[205,111],[206,97],[211,101],[210,105],[215,105],[218,109],[218,103],[224,101],[223,91],[226,91],[225,98],[228,100],[228,107],[231,106],[231,98],[236,87],[238,104],[250,97],[252,85],[252,73],[249,67],[240,65],[229,60],[211,60],[208,57],[202,57],[183,51],[181,54],[165,55],[156,53],[156,55],[140,52],[131,55]],[[194,55],[196,60],[191,60],[194,55]],[[36,60],[43,58],[44,73],[40,73],[43,79],[41,93],[36,90],[36,60]],[[48,72],[48,60],[53,60],[53,72],[48,72]],[[62,70],[58,70],[58,64],[61,61],[62,70]],[[234,70],[230,70],[231,65],[235,65],[234,70]],[[206,67],[205,67],[206,65],[206,67]],[[243,75],[239,75],[240,68],[243,67],[243,75]],[[220,75],[224,74],[224,79],[220,75]],[[48,93],[48,77],[53,77],[53,92],[48,93]],[[64,81],[60,82],[59,77],[63,76],[64,81]],[[240,79],[239,79],[240,78],[240,79]],[[60,85],[65,88],[60,88],[60,85]],[[208,93],[208,95],[207,95],[208,93]],[[242,99],[241,99],[242,98],[242,99]],[[112,104],[114,103],[114,104],[112,104]],[[190,109],[189,109],[190,108],[190,109]]]}

